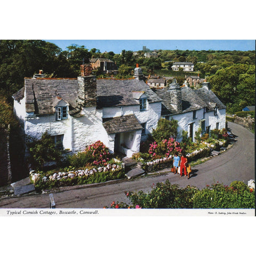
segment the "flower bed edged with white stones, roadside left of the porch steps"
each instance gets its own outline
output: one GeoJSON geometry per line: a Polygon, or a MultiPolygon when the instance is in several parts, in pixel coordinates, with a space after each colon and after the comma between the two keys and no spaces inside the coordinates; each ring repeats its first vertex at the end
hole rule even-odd
{"type": "Polygon", "coordinates": [[[30,171],[30,180],[37,190],[53,187],[73,186],[105,182],[125,178],[124,164],[113,158],[106,166],[91,167],[90,169],[75,170],[74,167],[63,170],[52,170],[47,173],[30,171]]]}

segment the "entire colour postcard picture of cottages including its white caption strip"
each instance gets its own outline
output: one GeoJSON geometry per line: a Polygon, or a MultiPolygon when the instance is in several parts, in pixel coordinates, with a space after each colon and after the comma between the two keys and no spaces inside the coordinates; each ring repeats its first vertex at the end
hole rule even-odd
{"type": "Polygon", "coordinates": [[[2,39],[0,60],[0,214],[254,215],[254,40],[2,39]]]}

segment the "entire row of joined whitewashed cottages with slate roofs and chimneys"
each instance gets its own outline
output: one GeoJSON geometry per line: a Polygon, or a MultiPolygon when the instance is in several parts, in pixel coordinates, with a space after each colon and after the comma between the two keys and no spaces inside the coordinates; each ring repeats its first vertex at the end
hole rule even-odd
{"type": "Polygon", "coordinates": [[[81,65],[77,78],[25,78],[13,94],[14,114],[26,138],[41,138],[47,131],[55,144],[72,153],[100,140],[111,152],[131,157],[141,140],[156,128],[161,116],[178,120],[179,131],[194,139],[199,127],[209,132],[225,127],[226,108],[209,89],[192,90],[173,82],[151,90],[141,68],[134,79],[96,79],[90,64],[81,65]]]}

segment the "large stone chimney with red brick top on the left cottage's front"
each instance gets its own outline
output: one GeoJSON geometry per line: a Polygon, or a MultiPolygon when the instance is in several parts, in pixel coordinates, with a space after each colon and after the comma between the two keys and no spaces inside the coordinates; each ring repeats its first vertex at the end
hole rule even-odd
{"type": "Polygon", "coordinates": [[[92,65],[83,64],[80,68],[81,76],[77,77],[78,105],[95,107],[97,104],[97,79],[96,76],[92,75],[92,65]]]}

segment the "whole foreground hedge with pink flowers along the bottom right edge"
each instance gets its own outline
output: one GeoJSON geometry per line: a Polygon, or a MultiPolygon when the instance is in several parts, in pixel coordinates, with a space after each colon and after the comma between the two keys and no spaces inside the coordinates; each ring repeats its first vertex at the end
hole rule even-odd
{"type": "Polygon", "coordinates": [[[153,183],[151,191],[133,193],[125,191],[131,205],[113,201],[111,208],[135,209],[254,209],[255,190],[247,187],[242,181],[234,181],[230,186],[219,182],[206,185],[199,190],[187,186],[179,188],[169,180],[153,183]]]}

